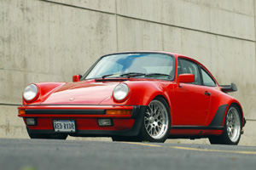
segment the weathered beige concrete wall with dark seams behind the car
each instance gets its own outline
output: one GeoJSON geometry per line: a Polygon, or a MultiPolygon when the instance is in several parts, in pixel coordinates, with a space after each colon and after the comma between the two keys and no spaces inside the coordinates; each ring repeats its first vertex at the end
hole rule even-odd
{"type": "Polygon", "coordinates": [[[248,120],[240,144],[256,145],[255,5],[255,0],[0,0],[0,138],[28,138],[16,110],[27,84],[71,81],[102,54],[164,50],[198,59],[220,84],[236,83],[239,91],[231,95],[248,120]]]}

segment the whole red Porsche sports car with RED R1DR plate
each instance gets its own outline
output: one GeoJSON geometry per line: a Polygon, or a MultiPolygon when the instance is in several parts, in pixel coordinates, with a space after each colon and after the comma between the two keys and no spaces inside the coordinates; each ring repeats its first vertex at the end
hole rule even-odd
{"type": "Polygon", "coordinates": [[[18,109],[32,139],[238,144],[246,120],[227,94],[236,90],[234,83],[218,85],[204,65],[182,54],[125,52],[102,56],[73,82],[28,85],[18,109]]]}

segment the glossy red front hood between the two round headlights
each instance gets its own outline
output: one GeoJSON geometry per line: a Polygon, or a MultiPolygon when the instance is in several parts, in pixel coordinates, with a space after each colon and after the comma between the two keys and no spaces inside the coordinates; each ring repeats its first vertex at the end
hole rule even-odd
{"type": "Polygon", "coordinates": [[[42,102],[45,105],[99,105],[112,96],[120,82],[70,82],[56,89],[42,102]]]}

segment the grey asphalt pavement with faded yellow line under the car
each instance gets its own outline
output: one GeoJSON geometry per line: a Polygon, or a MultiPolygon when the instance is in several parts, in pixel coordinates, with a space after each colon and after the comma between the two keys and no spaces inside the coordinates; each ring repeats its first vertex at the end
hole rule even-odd
{"type": "Polygon", "coordinates": [[[256,147],[0,139],[1,170],[256,169],[256,147]]]}

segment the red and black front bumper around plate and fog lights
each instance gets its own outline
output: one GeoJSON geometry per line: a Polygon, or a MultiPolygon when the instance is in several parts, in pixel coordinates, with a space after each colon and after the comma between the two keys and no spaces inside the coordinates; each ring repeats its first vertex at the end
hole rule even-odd
{"type": "Polygon", "coordinates": [[[24,118],[35,118],[36,125],[26,124],[28,133],[56,133],[53,120],[74,120],[76,132],[67,133],[71,136],[111,137],[136,136],[143,123],[145,105],[23,105],[18,108],[25,110],[24,118]],[[131,115],[107,115],[107,110],[131,110],[131,115]],[[99,118],[109,118],[113,126],[98,125],[99,118]]]}

